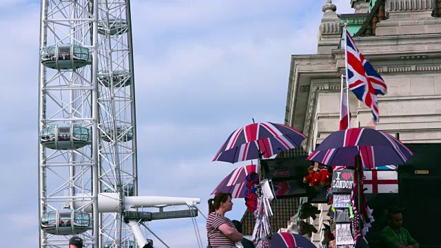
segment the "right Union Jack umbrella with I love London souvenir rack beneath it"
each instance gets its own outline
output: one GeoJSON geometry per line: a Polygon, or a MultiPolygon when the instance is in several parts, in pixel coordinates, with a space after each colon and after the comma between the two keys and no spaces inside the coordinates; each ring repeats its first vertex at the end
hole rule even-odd
{"type": "Polygon", "coordinates": [[[307,158],[334,166],[329,191],[329,231],[335,240],[325,247],[355,247],[367,243],[373,223],[364,192],[364,169],[403,165],[413,153],[397,138],[373,129],[350,128],[334,132],[307,158]]]}

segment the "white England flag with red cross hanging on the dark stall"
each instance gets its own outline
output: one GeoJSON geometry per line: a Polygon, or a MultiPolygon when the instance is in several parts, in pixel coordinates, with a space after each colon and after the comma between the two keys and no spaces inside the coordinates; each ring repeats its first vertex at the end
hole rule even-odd
{"type": "Polygon", "coordinates": [[[398,193],[398,172],[365,171],[364,188],[366,194],[398,193]]]}

